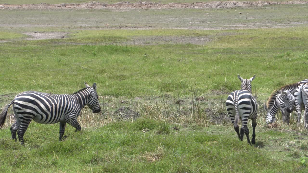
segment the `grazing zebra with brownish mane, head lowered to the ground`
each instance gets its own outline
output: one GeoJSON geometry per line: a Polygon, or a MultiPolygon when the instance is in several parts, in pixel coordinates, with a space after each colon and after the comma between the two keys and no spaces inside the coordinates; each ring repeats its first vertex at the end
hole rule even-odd
{"type": "Polygon", "coordinates": [[[302,83],[308,83],[308,79],[304,79],[297,83],[288,84],[275,90],[269,99],[267,100],[266,106],[264,106],[266,113],[266,123],[273,123],[276,121],[276,114],[280,109],[282,114],[282,121],[290,123],[290,113],[295,110],[295,97],[294,92],[298,85],[302,83]],[[283,92],[284,91],[284,92],[283,92]]]}

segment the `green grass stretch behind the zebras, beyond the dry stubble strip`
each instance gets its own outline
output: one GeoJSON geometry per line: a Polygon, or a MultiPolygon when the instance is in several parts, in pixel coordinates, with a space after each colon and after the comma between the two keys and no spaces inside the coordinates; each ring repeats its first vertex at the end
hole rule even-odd
{"type": "MultiPolygon", "coordinates": [[[[233,91],[239,88],[237,74],[246,78],[256,74],[253,90],[266,94],[262,97],[265,99],[277,87],[307,76],[308,32],[304,27],[151,31],[153,35],[213,35],[213,41],[203,46],[119,46],[116,39],[123,42],[135,31],[87,30],[68,39],[1,43],[0,61],[6,65],[0,69],[5,74],[1,76],[0,93],[25,90],[72,93],[83,81],[89,81],[98,83],[101,95],[144,97],[147,92],[160,95],[162,89],[174,96],[178,92],[186,96],[189,86],[200,94],[213,89],[233,91]],[[113,45],[105,46],[104,38],[109,40],[107,43],[113,40],[113,45]],[[83,40],[93,45],[65,44],[83,40]]],[[[148,35],[149,31],[138,33],[148,35]]]]}

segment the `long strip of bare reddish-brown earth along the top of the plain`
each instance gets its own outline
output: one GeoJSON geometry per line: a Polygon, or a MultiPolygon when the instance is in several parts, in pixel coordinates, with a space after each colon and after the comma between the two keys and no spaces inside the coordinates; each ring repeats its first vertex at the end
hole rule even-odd
{"type": "Polygon", "coordinates": [[[62,4],[23,4],[23,5],[9,5],[2,4],[0,9],[178,9],[178,8],[235,8],[235,7],[260,7],[265,5],[277,4],[307,4],[308,1],[288,1],[288,2],[275,2],[275,1],[257,1],[257,2],[195,2],[195,3],[168,3],[162,4],[160,2],[117,2],[114,4],[106,4],[101,2],[89,3],[62,3],[62,4]]]}

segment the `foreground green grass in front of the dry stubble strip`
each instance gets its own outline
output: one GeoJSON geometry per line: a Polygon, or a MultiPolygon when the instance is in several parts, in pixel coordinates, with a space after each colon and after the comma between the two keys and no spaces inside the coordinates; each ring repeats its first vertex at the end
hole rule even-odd
{"type": "Polygon", "coordinates": [[[258,127],[255,147],[239,141],[231,126],[208,128],[153,119],[110,123],[79,133],[57,125],[31,124],[25,147],[0,131],[2,172],[305,172],[307,136],[258,127]],[[161,130],[167,126],[168,130],[161,130]],[[163,132],[163,134],[159,134],[163,132]],[[164,134],[165,133],[165,134],[164,134]],[[302,161],[302,163],[301,163],[302,161]]]}

